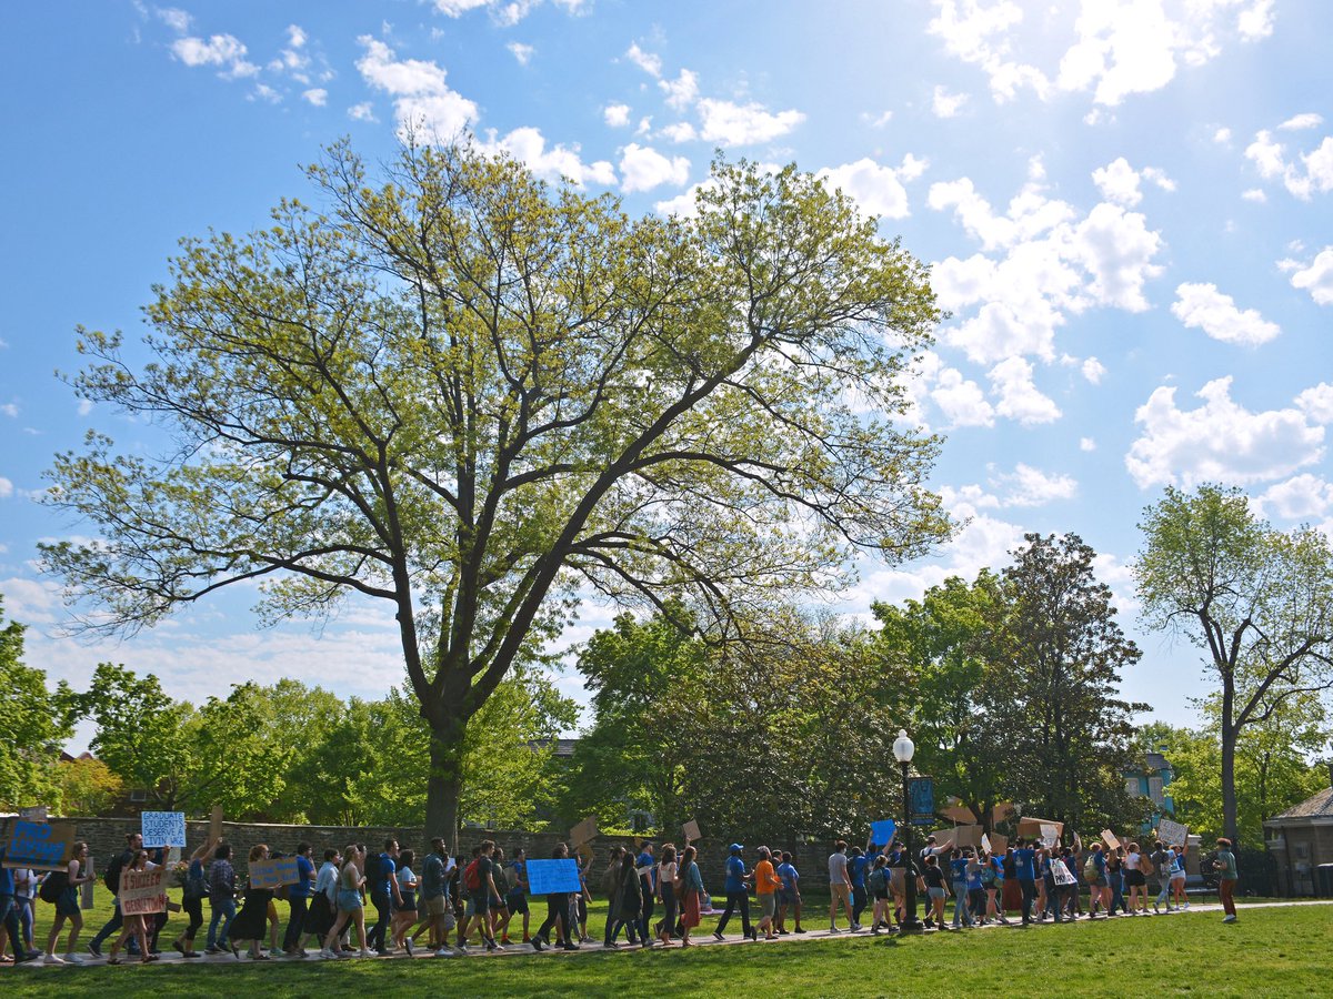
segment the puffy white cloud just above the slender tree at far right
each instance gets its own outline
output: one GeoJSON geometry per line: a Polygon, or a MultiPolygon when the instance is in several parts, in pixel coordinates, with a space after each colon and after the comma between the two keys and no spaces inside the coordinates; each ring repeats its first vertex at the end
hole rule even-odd
{"type": "Polygon", "coordinates": [[[1230,397],[1232,378],[1204,385],[1204,405],[1182,410],[1176,389],[1162,385],[1134,413],[1142,426],[1125,456],[1141,489],[1198,482],[1234,485],[1290,476],[1324,457],[1324,428],[1300,409],[1252,413],[1230,397]]]}

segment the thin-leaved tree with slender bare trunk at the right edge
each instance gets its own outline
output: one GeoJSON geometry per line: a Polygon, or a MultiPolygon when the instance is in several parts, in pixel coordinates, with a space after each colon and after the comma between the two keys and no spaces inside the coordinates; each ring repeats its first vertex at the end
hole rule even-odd
{"type": "Polygon", "coordinates": [[[1238,840],[1246,726],[1333,686],[1333,553],[1318,531],[1276,530],[1244,493],[1218,485],[1168,488],[1140,529],[1144,621],[1201,647],[1220,685],[1222,830],[1238,840]]]}

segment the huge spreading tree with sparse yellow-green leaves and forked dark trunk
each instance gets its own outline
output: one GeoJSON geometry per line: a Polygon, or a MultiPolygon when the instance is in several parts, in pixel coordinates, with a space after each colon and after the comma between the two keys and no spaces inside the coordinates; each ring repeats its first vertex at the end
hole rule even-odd
{"type": "Polygon", "coordinates": [[[710,615],[837,582],[945,530],[901,378],[938,317],[925,268],[794,166],[716,163],[697,216],[631,218],[467,144],[371,177],[345,145],[249,236],[187,241],[152,360],[84,330],[92,434],[44,547],[100,626],[220,587],[272,617],[392,610],[431,731],[427,821],[456,827],[469,722],[576,587],[710,615]]]}

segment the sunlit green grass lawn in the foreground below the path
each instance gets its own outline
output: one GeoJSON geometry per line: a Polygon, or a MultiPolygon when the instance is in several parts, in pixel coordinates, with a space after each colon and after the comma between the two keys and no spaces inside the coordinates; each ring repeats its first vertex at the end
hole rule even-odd
{"type": "MultiPolygon", "coordinates": [[[[51,907],[44,908],[49,914],[51,907]]],[[[595,910],[592,922],[600,931],[600,911],[595,910]]],[[[93,931],[100,926],[96,918],[88,923],[93,931]]],[[[817,928],[821,923],[810,919],[809,926],[817,928]]],[[[705,922],[704,928],[710,927],[705,922]]],[[[1222,926],[1220,912],[1197,912],[1036,926],[1026,931],[932,934],[908,940],[857,936],[704,946],[690,952],[7,968],[0,971],[0,991],[99,999],[144,992],[215,996],[261,991],[312,999],[437,991],[565,999],[701,995],[744,982],[766,996],[940,996],[998,990],[1008,995],[1124,996],[1150,991],[1249,998],[1326,995],[1333,974],[1330,954],[1333,908],[1306,906],[1254,908],[1242,912],[1236,926],[1222,926]]]]}

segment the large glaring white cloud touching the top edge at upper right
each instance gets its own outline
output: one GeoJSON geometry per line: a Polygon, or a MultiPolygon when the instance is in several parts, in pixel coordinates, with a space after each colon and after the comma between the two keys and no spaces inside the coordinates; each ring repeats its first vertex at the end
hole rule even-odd
{"type": "Polygon", "coordinates": [[[1025,23],[1025,7],[1013,0],[934,5],[928,31],[986,75],[996,101],[1012,100],[1020,89],[1042,100],[1057,91],[1090,89],[1094,103],[1114,107],[1165,87],[1180,64],[1197,67],[1217,57],[1229,36],[1253,41],[1272,32],[1270,0],[1198,0],[1170,4],[1169,12],[1162,0],[1082,0],[1072,36],[1054,39],[1062,25],[1049,15],[1058,7],[1032,5],[1048,16],[1025,23]],[[1034,65],[1022,49],[1061,53],[1058,68],[1034,65]]]}

